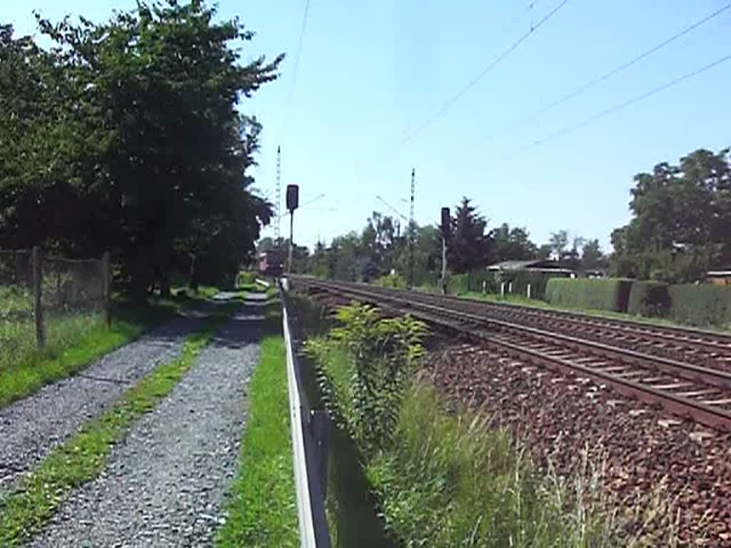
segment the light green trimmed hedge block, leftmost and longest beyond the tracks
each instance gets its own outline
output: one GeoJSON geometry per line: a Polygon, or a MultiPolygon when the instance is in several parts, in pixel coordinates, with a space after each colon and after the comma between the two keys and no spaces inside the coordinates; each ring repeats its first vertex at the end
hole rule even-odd
{"type": "Polygon", "coordinates": [[[631,280],[550,278],[545,297],[553,305],[626,312],[631,280]]]}

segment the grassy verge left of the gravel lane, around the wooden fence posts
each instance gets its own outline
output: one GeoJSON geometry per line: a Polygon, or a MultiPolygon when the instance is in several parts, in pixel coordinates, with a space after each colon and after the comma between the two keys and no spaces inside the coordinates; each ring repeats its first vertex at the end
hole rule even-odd
{"type": "MultiPolygon", "coordinates": [[[[48,315],[43,349],[37,347],[31,317],[0,319],[0,408],[31,395],[45,384],[73,375],[94,359],[173,319],[176,312],[201,308],[205,294],[154,298],[145,306],[118,300],[111,329],[107,329],[100,313],[48,315]]],[[[0,300],[0,306],[7,302],[0,300]]]]}

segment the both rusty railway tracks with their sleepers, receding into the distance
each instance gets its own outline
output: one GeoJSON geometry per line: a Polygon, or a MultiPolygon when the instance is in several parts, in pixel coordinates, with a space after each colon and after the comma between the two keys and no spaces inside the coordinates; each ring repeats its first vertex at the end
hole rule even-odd
{"type": "MultiPolygon", "coordinates": [[[[673,344],[678,344],[683,337],[683,330],[670,330],[676,334],[663,333],[655,338],[654,332],[663,331],[664,328],[655,330],[654,327],[648,328],[641,324],[651,333],[640,334],[632,331],[632,325],[624,322],[623,327],[614,329],[624,330],[626,338],[618,340],[618,337],[607,336],[604,340],[601,337],[597,340],[597,337],[587,335],[594,333],[593,328],[575,325],[577,321],[582,321],[575,317],[577,315],[569,314],[574,317],[559,320],[574,326],[569,335],[568,327],[557,329],[554,326],[553,330],[535,327],[535,319],[531,317],[523,321],[521,317],[511,316],[513,321],[507,321],[503,314],[494,313],[494,308],[483,308],[485,303],[482,302],[305,277],[295,277],[294,281],[296,285],[316,292],[371,302],[400,313],[411,313],[431,324],[479,338],[491,349],[520,359],[521,362],[592,378],[623,395],[662,405],[673,414],[711,427],[731,430],[731,372],[675,359],[678,355],[687,358],[689,346],[683,347],[682,354],[673,354],[674,357],[667,357],[667,353],[662,351],[657,352],[658,349],[667,348],[669,338],[675,337],[673,344]],[[640,351],[629,348],[633,340],[655,342],[637,343],[640,351]]],[[[530,314],[526,313],[526,316],[530,314]]],[[[588,324],[593,321],[604,324],[603,320],[594,316],[586,318],[588,324]]],[[[606,331],[612,328],[601,329],[606,331]]],[[[688,336],[693,338],[694,345],[700,347],[705,344],[700,335],[695,335],[696,332],[690,333],[692,335],[688,336]]],[[[719,342],[719,339],[713,338],[708,346],[696,351],[703,356],[725,355],[723,345],[722,340],[719,342]]]]}

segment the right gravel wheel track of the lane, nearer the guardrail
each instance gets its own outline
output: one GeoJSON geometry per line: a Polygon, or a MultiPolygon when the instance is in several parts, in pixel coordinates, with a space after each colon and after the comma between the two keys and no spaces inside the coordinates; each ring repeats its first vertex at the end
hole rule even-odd
{"type": "Polygon", "coordinates": [[[235,477],[260,316],[241,308],[31,547],[210,546],[235,477]]]}

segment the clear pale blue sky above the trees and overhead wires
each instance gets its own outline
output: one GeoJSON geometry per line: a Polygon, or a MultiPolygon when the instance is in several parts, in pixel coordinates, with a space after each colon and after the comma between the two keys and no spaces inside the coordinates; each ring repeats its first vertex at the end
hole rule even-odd
{"type": "MultiPolygon", "coordinates": [[[[282,183],[302,199],[295,242],[312,246],[361,229],[380,195],[408,215],[416,168],[416,218],[474,200],[491,226],[598,237],[629,219],[632,175],[696,148],[731,145],[731,61],[575,132],[547,135],[731,54],[731,9],[621,74],[541,115],[540,107],[629,61],[727,0],[569,0],[510,56],[423,131],[444,102],[529,31],[560,0],[219,1],[257,31],[244,60],[286,52],[281,79],[243,104],[264,125],[257,187],[273,197],[276,148],[282,183]],[[530,7],[532,4],[532,8],[530,7]],[[516,121],[527,119],[516,125],[516,121]],[[504,132],[505,128],[509,131],[504,132]]],[[[34,31],[31,11],[107,18],[127,0],[4,3],[0,19],[34,31]]],[[[283,222],[282,232],[287,223],[283,222]]],[[[272,229],[266,229],[270,235],[272,229]]]]}

